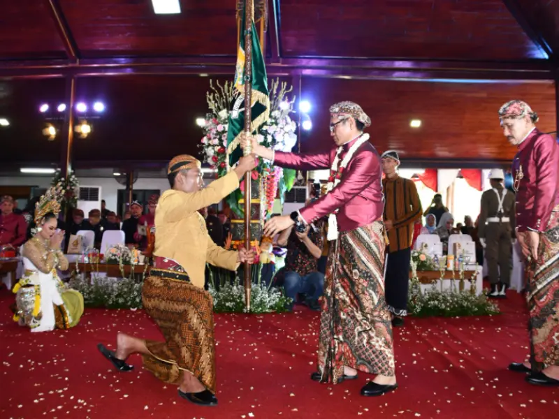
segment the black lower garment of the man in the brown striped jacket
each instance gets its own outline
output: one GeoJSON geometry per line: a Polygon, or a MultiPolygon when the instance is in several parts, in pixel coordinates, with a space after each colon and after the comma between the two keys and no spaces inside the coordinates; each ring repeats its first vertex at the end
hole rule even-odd
{"type": "Polygon", "coordinates": [[[409,288],[409,261],[412,249],[386,253],[386,275],[384,276],[384,293],[389,311],[396,316],[407,316],[407,291],[409,288]]]}

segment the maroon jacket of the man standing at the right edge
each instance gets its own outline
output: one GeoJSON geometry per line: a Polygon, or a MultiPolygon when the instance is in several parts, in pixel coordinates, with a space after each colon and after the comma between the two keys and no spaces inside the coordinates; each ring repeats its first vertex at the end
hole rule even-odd
{"type": "Polygon", "coordinates": [[[516,230],[543,232],[553,208],[559,205],[559,145],[535,129],[518,145],[512,162],[516,192],[516,230]],[[515,182],[522,168],[523,177],[515,182]]]}

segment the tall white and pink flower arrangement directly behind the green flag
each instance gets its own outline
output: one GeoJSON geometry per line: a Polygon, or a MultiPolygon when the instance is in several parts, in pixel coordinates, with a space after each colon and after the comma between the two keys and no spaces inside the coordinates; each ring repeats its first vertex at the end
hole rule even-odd
{"type": "MultiPolygon", "coordinates": [[[[295,97],[287,97],[292,90],[293,87],[288,88],[285,82],[280,83],[279,80],[273,80],[270,83],[270,119],[259,128],[259,132],[256,134],[261,145],[282,152],[290,152],[296,144],[297,124],[289,116],[294,112],[295,97]]],[[[210,91],[206,94],[210,112],[206,114],[204,122],[201,124],[204,136],[199,147],[203,163],[208,163],[210,168],[216,169],[218,177],[226,175],[228,171],[227,130],[229,108],[234,95],[235,89],[232,82],[213,84],[210,80],[210,91]]],[[[265,179],[264,182],[261,182],[263,188],[261,196],[266,200],[262,205],[263,210],[266,211],[263,216],[268,218],[272,214],[277,191],[279,191],[279,197],[283,203],[284,192],[289,191],[293,186],[296,172],[291,169],[275,168],[270,165],[269,161],[259,159],[259,164],[253,173],[256,179],[259,177],[265,179]]],[[[242,198],[243,190],[244,185],[241,185],[240,190],[231,193],[226,199],[231,210],[238,216],[242,216],[242,208],[238,205],[238,201],[242,198]]]]}

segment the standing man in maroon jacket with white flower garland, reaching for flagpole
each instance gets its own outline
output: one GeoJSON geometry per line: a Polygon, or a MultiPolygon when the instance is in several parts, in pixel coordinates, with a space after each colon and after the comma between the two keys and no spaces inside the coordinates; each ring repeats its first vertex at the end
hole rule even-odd
{"type": "MultiPolygon", "coordinates": [[[[331,106],[329,152],[292,154],[266,149],[251,138],[252,152],[277,166],[330,169],[327,193],[300,212],[270,219],[264,228],[274,237],[294,225],[298,231],[328,216],[331,241],[322,301],[318,368],[312,380],[341,383],[358,371],[376,377],[362,389],[378,396],[398,387],[395,378],[391,315],[384,298],[386,229],[379,154],[363,128],[370,118],[359,105],[331,106]]],[[[247,146],[248,139],[241,141],[247,146]]]]}

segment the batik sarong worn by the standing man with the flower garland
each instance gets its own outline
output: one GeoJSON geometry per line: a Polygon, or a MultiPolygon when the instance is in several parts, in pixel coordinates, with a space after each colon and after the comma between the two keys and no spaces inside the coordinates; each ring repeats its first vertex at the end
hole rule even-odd
{"type": "Polygon", "coordinates": [[[344,365],[394,375],[391,314],[384,299],[384,223],[341,232],[331,245],[320,318],[321,381],[338,383],[344,365]]]}

